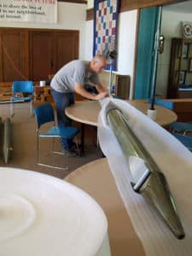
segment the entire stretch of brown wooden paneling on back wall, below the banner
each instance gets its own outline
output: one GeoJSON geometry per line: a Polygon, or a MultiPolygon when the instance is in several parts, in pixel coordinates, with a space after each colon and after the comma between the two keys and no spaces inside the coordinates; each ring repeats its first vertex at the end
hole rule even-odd
{"type": "Polygon", "coordinates": [[[49,79],[68,61],[79,58],[79,31],[0,28],[0,81],[49,79]],[[19,70],[15,71],[13,65],[19,70]]]}

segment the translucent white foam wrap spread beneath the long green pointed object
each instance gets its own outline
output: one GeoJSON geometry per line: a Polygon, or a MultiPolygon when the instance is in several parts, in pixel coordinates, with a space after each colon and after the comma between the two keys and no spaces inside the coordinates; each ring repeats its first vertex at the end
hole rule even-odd
{"type": "Polygon", "coordinates": [[[143,242],[146,255],[190,255],[192,250],[190,242],[192,235],[192,160],[189,150],[128,102],[117,99],[102,101],[98,128],[103,154],[108,157],[119,194],[125,203],[137,236],[143,242]],[[108,124],[107,113],[111,108],[111,102],[128,120],[131,131],[142,142],[148,154],[166,177],[185,230],[186,236],[183,240],[177,240],[148,201],[133,190],[130,165],[134,166],[134,157],[131,160],[125,158],[122,145],[119,146],[108,124]]]}

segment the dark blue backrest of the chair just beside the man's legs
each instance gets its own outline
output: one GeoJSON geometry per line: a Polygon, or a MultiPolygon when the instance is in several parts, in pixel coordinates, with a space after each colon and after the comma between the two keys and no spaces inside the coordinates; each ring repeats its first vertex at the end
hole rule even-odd
{"type": "Polygon", "coordinates": [[[35,117],[37,120],[38,128],[49,122],[55,121],[54,109],[49,103],[34,108],[35,117]]]}

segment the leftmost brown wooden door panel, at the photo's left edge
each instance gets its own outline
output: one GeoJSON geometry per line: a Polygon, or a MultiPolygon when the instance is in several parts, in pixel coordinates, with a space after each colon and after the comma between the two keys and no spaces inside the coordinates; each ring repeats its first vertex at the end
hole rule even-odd
{"type": "Polygon", "coordinates": [[[28,79],[28,37],[26,30],[0,29],[0,80],[28,79]]]}

